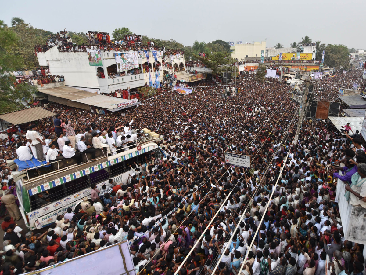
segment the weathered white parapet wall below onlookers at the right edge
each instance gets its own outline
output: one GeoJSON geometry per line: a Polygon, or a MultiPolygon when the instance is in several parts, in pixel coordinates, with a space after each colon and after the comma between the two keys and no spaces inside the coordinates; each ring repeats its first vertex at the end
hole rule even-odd
{"type": "Polygon", "coordinates": [[[346,193],[345,186],[346,184],[343,181],[338,180],[336,201],[338,202],[344,238],[348,241],[365,245],[366,208],[351,205],[346,200],[344,197],[346,193]]]}

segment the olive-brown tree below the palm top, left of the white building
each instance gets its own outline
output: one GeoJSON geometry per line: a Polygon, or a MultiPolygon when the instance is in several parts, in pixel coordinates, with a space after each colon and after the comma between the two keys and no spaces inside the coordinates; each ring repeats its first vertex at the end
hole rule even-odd
{"type": "Polygon", "coordinates": [[[30,24],[18,24],[11,29],[19,38],[18,43],[13,44],[13,51],[23,58],[24,66],[29,69],[39,66],[34,46],[46,44],[50,32],[34,29],[30,24]]]}

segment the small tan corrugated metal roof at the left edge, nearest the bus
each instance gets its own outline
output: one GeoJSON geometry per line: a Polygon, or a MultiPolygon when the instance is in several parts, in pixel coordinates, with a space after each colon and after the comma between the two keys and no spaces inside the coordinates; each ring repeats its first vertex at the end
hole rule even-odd
{"type": "Polygon", "coordinates": [[[32,107],[19,111],[0,114],[0,119],[17,125],[30,121],[40,120],[45,117],[52,117],[53,115],[55,115],[55,113],[42,109],[41,107],[32,107]]]}

